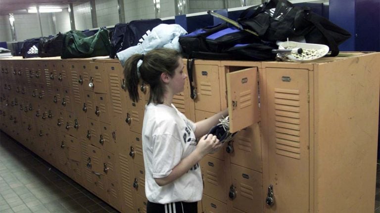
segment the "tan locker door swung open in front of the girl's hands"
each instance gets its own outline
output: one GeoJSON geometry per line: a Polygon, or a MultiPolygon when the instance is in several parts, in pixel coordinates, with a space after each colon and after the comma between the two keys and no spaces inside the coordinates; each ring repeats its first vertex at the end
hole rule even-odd
{"type": "Polygon", "coordinates": [[[259,121],[257,68],[227,73],[230,132],[259,121]]]}

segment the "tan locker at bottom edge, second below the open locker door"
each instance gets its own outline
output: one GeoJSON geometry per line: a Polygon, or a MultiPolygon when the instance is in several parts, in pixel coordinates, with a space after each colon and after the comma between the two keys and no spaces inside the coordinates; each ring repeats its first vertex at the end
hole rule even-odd
{"type": "Polygon", "coordinates": [[[232,207],[247,213],[263,212],[262,174],[231,164],[231,178],[229,198],[232,207]]]}

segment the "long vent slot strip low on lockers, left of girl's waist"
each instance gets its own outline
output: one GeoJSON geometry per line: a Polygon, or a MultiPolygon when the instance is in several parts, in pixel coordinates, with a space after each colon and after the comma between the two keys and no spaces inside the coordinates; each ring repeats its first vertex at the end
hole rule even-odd
{"type": "Polygon", "coordinates": [[[131,181],[131,170],[129,168],[128,162],[129,156],[119,154],[120,161],[120,173],[122,179],[122,200],[129,208],[135,209],[134,207],[134,196],[132,192],[132,181],[131,181]]]}

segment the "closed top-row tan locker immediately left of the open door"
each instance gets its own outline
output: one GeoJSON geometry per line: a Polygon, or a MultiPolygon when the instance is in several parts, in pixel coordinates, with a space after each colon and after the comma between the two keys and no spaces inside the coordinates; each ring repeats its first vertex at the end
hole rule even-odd
{"type": "Polygon", "coordinates": [[[197,93],[194,99],[195,109],[219,112],[222,108],[218,65],[195,64],[193,69],[197,93]]]}

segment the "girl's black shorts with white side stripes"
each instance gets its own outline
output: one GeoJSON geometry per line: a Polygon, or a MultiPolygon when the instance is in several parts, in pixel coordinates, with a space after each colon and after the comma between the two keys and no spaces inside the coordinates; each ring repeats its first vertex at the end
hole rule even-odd
{"type": "Polygon", "coordinates": [[[198,202],[175,202],[156,204],[148,201],[146,213],[198,213],[198,202]]]}

